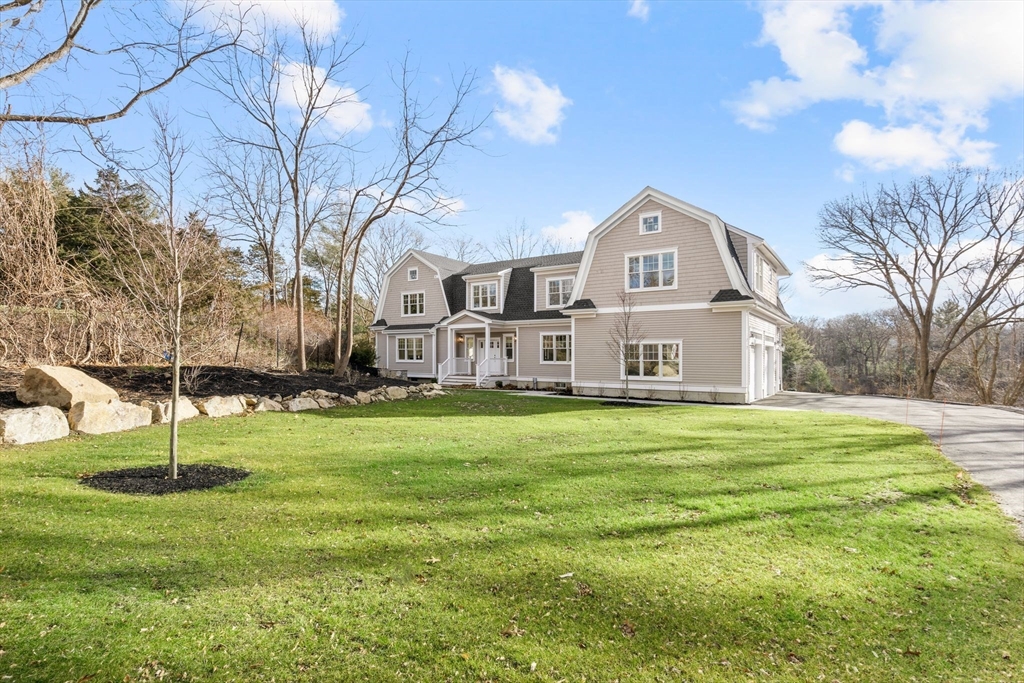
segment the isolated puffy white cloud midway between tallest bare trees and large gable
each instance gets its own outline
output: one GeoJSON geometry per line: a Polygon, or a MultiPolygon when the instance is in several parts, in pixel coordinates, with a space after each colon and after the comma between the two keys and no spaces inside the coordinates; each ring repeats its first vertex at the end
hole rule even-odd
{"type": "Polygon", "coordinates": [[[496,65],[495,82],[504,105],[495,120],[512,137],[530,144],[553,144],[572,100],[557,85],[548,85],[529,71],[496,65]]]}

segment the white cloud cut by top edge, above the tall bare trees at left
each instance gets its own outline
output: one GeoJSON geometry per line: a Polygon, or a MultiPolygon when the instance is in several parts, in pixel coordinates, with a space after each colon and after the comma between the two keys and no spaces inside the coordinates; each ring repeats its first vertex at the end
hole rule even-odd
{"type": "MultiPolygon", "coordinates": [[[[184,0],[178,1],[184,4],[184,0]]],[[[305,26],[331,36],[345,20],[345,10],[335,0],[214,0],[202,7],[201,16],[210,25],[245,17],[250,30],[265,22],[284,31],[305,26]]]]}

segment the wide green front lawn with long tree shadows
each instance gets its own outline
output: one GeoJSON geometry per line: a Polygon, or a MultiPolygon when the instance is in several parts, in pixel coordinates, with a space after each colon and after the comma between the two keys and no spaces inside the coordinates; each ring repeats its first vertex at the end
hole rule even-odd
{"type": "Polygon", "coordinates": [[[1024,679],[1024,544],[914,429],[460,392],[184,425],[221,489],[76,482],[166,436],[0,451],[2,680],[1024,679]]]}

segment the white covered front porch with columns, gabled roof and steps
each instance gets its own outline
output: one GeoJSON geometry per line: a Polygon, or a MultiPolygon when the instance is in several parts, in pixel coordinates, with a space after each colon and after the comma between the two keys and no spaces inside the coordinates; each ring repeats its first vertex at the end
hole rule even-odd
{"type": "Polygon", "coordinates": [[[440,350],[437,381],[441,384],[489,386],[514,374],[516,331],[483,316],[464,313],[446,326],[447,348],[440,350]]]}

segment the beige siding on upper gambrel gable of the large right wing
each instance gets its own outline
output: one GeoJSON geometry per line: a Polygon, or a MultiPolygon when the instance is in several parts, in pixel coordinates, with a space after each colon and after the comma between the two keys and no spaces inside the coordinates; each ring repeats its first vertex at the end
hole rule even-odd
{"type": "Polygon", "coordinates": [[[707,302],[719,290],[732,287],[711,226],[648,200],[598,241],[581,298],[591,299],[599,308],[616,305],[617,295],[626,287],[625,254],[673,248],[679,250],[677,289],[634,290],[637,305],[707,302]],[[640,234],[640,214],[649,211],[662,212],[662,231],[640,234]]]}

